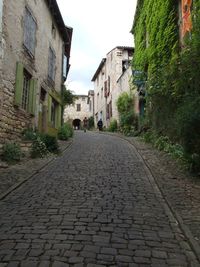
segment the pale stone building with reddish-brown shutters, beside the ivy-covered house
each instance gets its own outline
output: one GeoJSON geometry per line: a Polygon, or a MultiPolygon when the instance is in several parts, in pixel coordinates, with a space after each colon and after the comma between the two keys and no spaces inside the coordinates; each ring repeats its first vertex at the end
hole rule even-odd
{"type": "Polygon", "coordinates": [[[103,125],[108,127],[111,119],[119,121],[116,100],[120,93],[130,91],[133,52],[133,47],[117,46],[102,59],[97,68],[92,78],[95,123],[101,118],[103,125]]]}

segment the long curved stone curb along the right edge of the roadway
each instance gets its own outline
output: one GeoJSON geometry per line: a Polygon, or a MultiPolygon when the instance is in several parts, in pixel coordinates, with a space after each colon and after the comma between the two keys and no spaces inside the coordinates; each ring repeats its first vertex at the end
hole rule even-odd
{"type": "MultiPolygon", "coordinates": [[[[104,132],[104,134],[106,134],[106,132],[104,132]]],[[[164,196],[162,189],[160,188],[159,184],[157,183],[150,166],[148,165],[148,163],[145,161],[145,159],[142,157],[142,155],[140,154],[140,152],[138,151],[138,149],[136,148],[134,142],[131,142],[131,140],[127,139],[125,136],[123,135],[118,135],[118,134],[109,134],[110,136],[115,136],[115,137],[119,137],[125,141],[127,141],[129,144],[131,144],[134,147],[134,150],[136,151],[136,153],[139,155],[141,161],[144,164],[145,167],[145,171],[146,174],[148,176],[148,179],[153,187],[153,189],[156,191],[156,193],[158,194],[158,196],[160,196],[161,200],[162,200],[162,205],[165,209],[166,214],[168,215],[170,222],[172,223],[172,227],[174,227],[174,225],[179,225],[180,229],[182,230],[183,234],[185,235],[185,237],[188,239],[188,242],[190,244],[191,249],[193,250],[193,252],[195,253],[196,258],[198,259],[198,261],[200,262],[200,246],[198,244],[198,242],[195,240],[193,234],[191,233],[190,229],[184,224],[181,216],[179,215],[178,212],[176,212],[172,206],[170,205],[170,202],[167,200],[167,198],[164,196]]]]}

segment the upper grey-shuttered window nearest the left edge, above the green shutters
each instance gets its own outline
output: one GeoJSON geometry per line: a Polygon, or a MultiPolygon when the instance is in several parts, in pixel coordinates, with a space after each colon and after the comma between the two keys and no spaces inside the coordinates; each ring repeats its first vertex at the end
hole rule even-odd
{"type": "Polygon", "coordinates": [[[28,8],[25,8],[24,16],[24,46],[33,56],[35,54],[36,21],[28,8]]]}

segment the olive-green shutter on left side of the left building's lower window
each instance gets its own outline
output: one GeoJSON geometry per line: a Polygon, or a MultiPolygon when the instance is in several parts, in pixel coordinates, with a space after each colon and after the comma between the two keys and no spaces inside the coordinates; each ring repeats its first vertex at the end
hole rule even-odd
{"type": "Polygon", "coordinates": [[[20,106],[22,103],[23,83],[24,83],[24,66],[22,63],[17,62],[16,81],[15,81],[15,100],[14,100],[16,106],[20,106]]]}

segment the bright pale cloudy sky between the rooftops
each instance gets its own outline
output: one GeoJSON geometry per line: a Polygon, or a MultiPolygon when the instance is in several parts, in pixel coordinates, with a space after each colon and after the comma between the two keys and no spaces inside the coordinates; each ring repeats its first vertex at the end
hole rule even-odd
{"type": "Polygon", "coordinates": [[[88,94],[102,58],[116,46],[134,46],[132,28],[137,0],[57,0],[66,26],[73,28],[66,81],[75,94],[88,94]]]}

